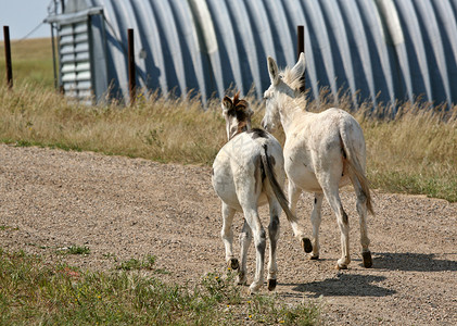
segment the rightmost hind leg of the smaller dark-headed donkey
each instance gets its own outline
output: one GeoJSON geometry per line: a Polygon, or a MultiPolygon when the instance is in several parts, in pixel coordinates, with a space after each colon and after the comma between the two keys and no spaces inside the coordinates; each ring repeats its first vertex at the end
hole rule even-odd
{"type": "Polygon", "coordinates": [[[268,225],[268,236],[270,239],[269,261],[268,261],[268,290],[272,291],[276,288],[278,264],[276,263],[276,250],[279,240],[279,215],[281,214],[281,205],[276,199],[269,200],[270,206],[270,224],[268,225]]]}

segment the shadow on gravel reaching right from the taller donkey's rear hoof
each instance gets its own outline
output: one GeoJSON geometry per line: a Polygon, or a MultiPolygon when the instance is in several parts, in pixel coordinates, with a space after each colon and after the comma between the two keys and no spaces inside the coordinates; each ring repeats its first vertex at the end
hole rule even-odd
{"type": "MultiPolygon", "coordinates": [[[[454,253],[457,256],[457,253],[454,253]]],[[[456,272],[457,261],[437,260],[434,253],[377,252],[373,267],[378,269],[405,272],[456,272]]]]}

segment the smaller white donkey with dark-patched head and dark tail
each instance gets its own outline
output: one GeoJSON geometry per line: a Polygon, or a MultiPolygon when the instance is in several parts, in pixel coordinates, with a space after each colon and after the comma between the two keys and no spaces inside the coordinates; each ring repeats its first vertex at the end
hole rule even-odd
{"type": "MultiPolygon", "coordinates": [[[[268,289],[274,290],[278,271],[276,249],[281,208],[285,211],[290,223],[296,224],[296,218],[290,212],[281,189],[285,179],[282,148],[270,134],[263,129],[251,129],[252,111],[247,102],[240,100],[238,95],[233,100],[225,97],[221,106],[229,141],[220,149],[214,161],[213,187],[223,201],[221,238],[226,247],[226,261],[229,267],[240,268],[238,283],[245,284],[246,254],[254,236],[256,271],[250,290],[255,292],[261,288],[264,283],[266,235],[257,208],[268,202],[270,250],[267,279],[268,289]],[[237,211],[244,213],[244,225],[240,234],[241,264],[232,252],[231,226],[237,211]]],[[[305,237],[301,240],[305,251],[310,252],[313,250],[310,240],[305,237]]]]}

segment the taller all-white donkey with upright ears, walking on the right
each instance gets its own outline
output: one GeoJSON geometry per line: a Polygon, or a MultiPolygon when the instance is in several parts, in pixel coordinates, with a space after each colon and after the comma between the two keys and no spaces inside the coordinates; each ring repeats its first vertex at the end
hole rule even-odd
{"type": "Polygon", "coordinates": [[[313,253],[319,258],[321,203],[326,196],[341,230],[342,256],[337,268],[347,268],[351,262],[348,220],[340,200],[339,188],[353,184],[357,196],[361,254],[365,267],[371,267],[370,241],[367,235],[367,209],[373,214],[370,189],[365,176],[366,149],[360,125],[348,113],[329,109],[321,113],[306,112],[306,101],[300,96],[305,55],[301,53],[293,68],[278,71],[268,57],[271,85],[265,91],[266,112],[262,126],[272,130],[280,123],[285,133],[284,167],[289,177],[289,203],[295,215],[302,190],[314,192],[313,253]]]}

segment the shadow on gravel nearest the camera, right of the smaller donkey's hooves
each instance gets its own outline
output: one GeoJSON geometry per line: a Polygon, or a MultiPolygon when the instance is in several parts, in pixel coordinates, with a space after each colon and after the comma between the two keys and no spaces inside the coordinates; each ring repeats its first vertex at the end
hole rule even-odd
{"type": "Polygon", "coordinates": [[[293,291],[303,292],[306,297],[388,297],[395,294],[395,290],[376,285],[384,280],[383,276],[339,274],[334,278],[292,285],[293,291]]]}

